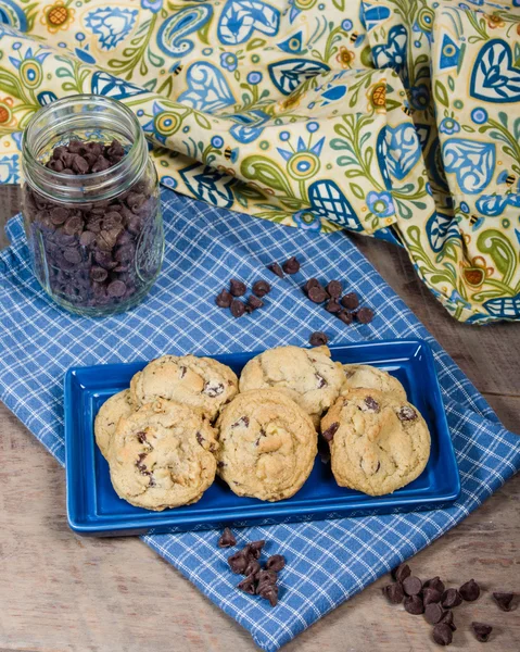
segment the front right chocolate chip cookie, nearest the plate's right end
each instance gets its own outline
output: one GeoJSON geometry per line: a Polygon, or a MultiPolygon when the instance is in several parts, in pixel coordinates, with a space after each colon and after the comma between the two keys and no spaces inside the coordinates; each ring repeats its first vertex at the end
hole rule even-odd
{"type": "Polygon", "coordinates": [[[430,456],[430,432],[419,411],[391,394],[353,389],[321,421],[340,487],[370,496],[415,480],[430,456]]]}

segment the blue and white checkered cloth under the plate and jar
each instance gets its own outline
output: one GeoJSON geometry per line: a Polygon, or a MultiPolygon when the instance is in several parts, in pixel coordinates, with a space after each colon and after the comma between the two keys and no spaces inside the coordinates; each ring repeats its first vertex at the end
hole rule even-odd
{"type": "Polygon", "coordinates": [[[234,586],[218,532],[155,535],[144,541],[249,629],[269,652],[398,562],[442,536],[520,468],[520,438],[508,432],[471,383],[433,340],[344,233],[290,229],[163,193],[166,259],[147,300],[105,319],[68,315],[43,294],[27,263],[21,218],[0,253],[0,399],[63,464],[63,376],[68,367],[151,359],[162,353],[223,353],[307,344],[313,330],[332,343],[419,337],[430,341],[460,468],[462,492],[448,510],[272,525],[238,530],[239,543],[267,539],[282,553],[280,602],[234,586]],[[278,278],[272,261],[297,255],[302,273],[278,278]],[[340,278],[376,308],[367,326],[345,326],[301,291],[304,279],[340,278]],[[267,278],[267,308],[233,319],[214,297],[230,277],[267,278]]]}

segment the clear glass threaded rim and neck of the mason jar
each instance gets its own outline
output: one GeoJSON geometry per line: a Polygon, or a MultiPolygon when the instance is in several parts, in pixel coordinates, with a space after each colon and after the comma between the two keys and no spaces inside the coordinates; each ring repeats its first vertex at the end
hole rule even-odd
{"type": "MultiPolygon", "coordinates": [[[[90,128],[96,127],[90,126],[90,128]]],[[[132,111],[113,98],[94,93],[67,96],[47,104],[30,117],[22,138],[22,167],[25,179],[49,199],[72,203],[113,198],[122,192],[122,186],[131,186],[138,179],[147,161],[147,140],[132,111]],[[97,105],[98,110],[96,112],[74,112],[74,109],[88,105],[97,105]],[[125,136],[131,143],[125,156],[107,170],[90,174],[67,175],[46,167],[38,160],[35,150],[45,146],[52,136],[55,128],[52,124],[52,115],[56,114],[58,116],[60,112],[66,114],[67,111],[69,111],[69,115],[64,118],[62,125],[68,130],[73,130],[76,123],[84,122],[87,115],[90,117],[97,115],[101,122],[112,128],[125,129],[125,136]],[[107,117],[111,112],[114,114],[113,118],[107,117]],[[50,124],[45,125],[46,120],[50,124]],[[45,138],[46,135],[48,138],[45,138]],[[38,142],[38,139],[41,142],[38,142]]]]}

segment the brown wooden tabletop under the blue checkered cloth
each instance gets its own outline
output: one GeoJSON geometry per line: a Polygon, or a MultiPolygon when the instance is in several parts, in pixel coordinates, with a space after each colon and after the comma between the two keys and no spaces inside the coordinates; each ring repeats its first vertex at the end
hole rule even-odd
{"type": "MultiPolygon", "coordinates": [[[[0,190],[3,218],[16,208],[16,193],[0,190]]],[[[0,214],[0,231],[1,223],[0,214]]],[[[417,279],[403,251],[368,238],[355,240],[503,423],[519,431],[520,325],[456,323],[417,279]]],[[[0,652],[258,649],[245,630],[139,540],[75,536],[66,524],[63,469],[2,404],[0,452],[0,652]]],[[[519,499],[517,476],[410,562],[423,578],[441,575],[456,586],[474,577],[489,591],[456,610],[451,650],[481,649],[469,631],[471,620],[494,626],[483,648],[487,652],[520,650],[520,609],[503,613],[491,599],[493,590],[520,591],[519,499]]],[[[382,598],[386,581],[368,587],[283,651],[439,650],[422,617],[382,598]]]]}

